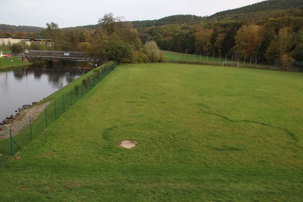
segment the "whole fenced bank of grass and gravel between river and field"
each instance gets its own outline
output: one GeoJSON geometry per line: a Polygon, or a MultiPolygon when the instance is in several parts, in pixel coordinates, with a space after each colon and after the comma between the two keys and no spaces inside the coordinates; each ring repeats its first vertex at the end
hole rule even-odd
{"type": "MultiPolygon", "coordinates": [[[[0,166],[8,161],[17,150],[26,146],[33,138],[41,135],[49,125],[53,124],[69,107],[75,104],[78,99],[85,96],[117,66],[118,62],[109,62],[95,68],[86,75],[86,78],[82,79],[82,81],[79,80],[73,89],[63,93],[59,97],[57,96],[56,99],[51,100],[45,107],[40,107],[40,111],[28,113],[30,115],[28,116],[27,114],[23,117],[19,126],[13,124],[12,128],[9,127],[7,131],[0,134],[0,166]],[[19,132],[20,127],[23,127],[21,132],[19,132]],[[12,139],[10,140],[10,138],[12,139]]],[[[40,106],[43,106],[43,104],[40,106]]]]}

